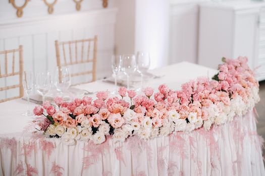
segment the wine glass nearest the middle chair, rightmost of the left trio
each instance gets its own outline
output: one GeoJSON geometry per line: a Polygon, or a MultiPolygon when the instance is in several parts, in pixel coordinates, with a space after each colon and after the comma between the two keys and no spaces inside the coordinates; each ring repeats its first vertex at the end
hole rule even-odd
{"type": "Polygon", "coordinates": [[[71,85],[71,73],[68,66],[58,66],[55,71],[55,86],[60,91],[61,97],[71,85]]]}

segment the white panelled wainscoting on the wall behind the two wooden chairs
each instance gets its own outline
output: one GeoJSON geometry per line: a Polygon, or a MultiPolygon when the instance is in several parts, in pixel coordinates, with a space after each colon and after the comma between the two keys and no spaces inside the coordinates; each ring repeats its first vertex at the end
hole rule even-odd
{"type": "MultiPolygon", "coordinates": [[[[98,36],[97,78],[111,73],[115,46],[117,9],[100,9],[73,14],[0,21],[0,51],[23,45],[24,70],[54,71],[55,40],[67,41],[98,36]]],[[[0,58],[0,65],[4,59],[0,58]]],[[[18,64],[18,63],[17,63],[18,64]]],[[[11,69],[11,64],[9,64],[11,69]]],[[[0,87],[16,84],[18,77],[0,79],[0,87]]],[[[0,92],[0,99],[17,96],[17,89],[0,92]]]]}

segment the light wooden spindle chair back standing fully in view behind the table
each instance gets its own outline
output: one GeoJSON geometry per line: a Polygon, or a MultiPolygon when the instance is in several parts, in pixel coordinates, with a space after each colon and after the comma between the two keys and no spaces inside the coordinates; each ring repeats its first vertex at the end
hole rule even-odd
{"type": "MultiPolygon", "coordinates": [[[[73,76],[80,76],[80,75],[86,75],[86,74],[92,74],[92,81],[96,80],[96,54],[97,54],[97,36],[94,36],[94,38],[89,38],[89,39],[84,39],[84,40],[73,40],[73,41],[64,41],[64,42],[59,42],[58,40],[55,41],[55,47],[56,47],[56,57],[57,57],[57,66],[70,66],[74,64],[81,64],[81,63],[89,63],[92,62],[92,70],[86,70],[82,72],[76,72],[76,73],[71,73],[71,77],[73,76]],[[93,53],[92,53],[92,59],[89,58],[89,52],[90,52],[90,45],[91,42],[93,42],[93,53]],[[79,54],[81,59],[78,59],[78,49],[77,46],[78,44],[80,45],[81,43],[81,54],[79,54]],[[87,47],[87,54],[84,56],[84,45],[85,43],[88,43],[87,47]],[[69,58],[67,60],[66,57],[66,47],[68,47],[69,50],[69,58]],[[72,46],[74,45],[74,58],[72,54],[72,46]],[[63,63],[61,62],[61,56],[60,56],[60,46],[63,47],[63,63]]],[[[59,73],[59,80],[62,80],[61,74],[59,73]]],[[[88,81],[91,82],[91,81],[88,81]]],[[[87,82],[82,82],[82,83],[87,83],[87,82]]],[[[80,83],[78,83],[80,84],[80,83]]],[[[73,84],[72,84],[73,85],[73,84]]]]}

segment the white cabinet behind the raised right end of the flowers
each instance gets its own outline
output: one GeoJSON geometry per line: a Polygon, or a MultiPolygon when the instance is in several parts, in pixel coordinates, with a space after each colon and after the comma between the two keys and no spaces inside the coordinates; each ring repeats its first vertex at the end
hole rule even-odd
{"type": "Polygon", "coordinates": [[[200,4],[198,63],[217,68],[222,57],[238,56],[247,56],[257,79],[265,79],[265,3],[200,4]]]}

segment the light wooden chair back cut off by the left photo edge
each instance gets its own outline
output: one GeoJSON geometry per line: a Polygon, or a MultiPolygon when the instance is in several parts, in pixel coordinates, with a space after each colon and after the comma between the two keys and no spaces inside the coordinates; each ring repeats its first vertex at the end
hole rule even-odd
{"type": "Polygon", "coordinates": [[[1,60],[0,60],[0,78],[8,77],[8,76],[14,76],[19,75],[19,84],[0,87],[0,91],[6,91],[9,89],[14,89],[16,87],[19,87],[19,96],[17,97],[11,97],[0,100],[0,103],[6,102],[13,99],[18,99],[23,97],[24,90],[23,90],[23,83],[22,83],[22,75],[23,75],[23,47],[22,45],[19,46],[18,49],[11,49],[11,50],[5,50],[0,51],[0,55],[5,55],[5,73],[1,70],[1,60]],[[15,52],[19,52],[19,71],[15,72],[15,52]],[[9,72],[8,70],[8,54],[12,53],[12,72],[9,72]]]}

